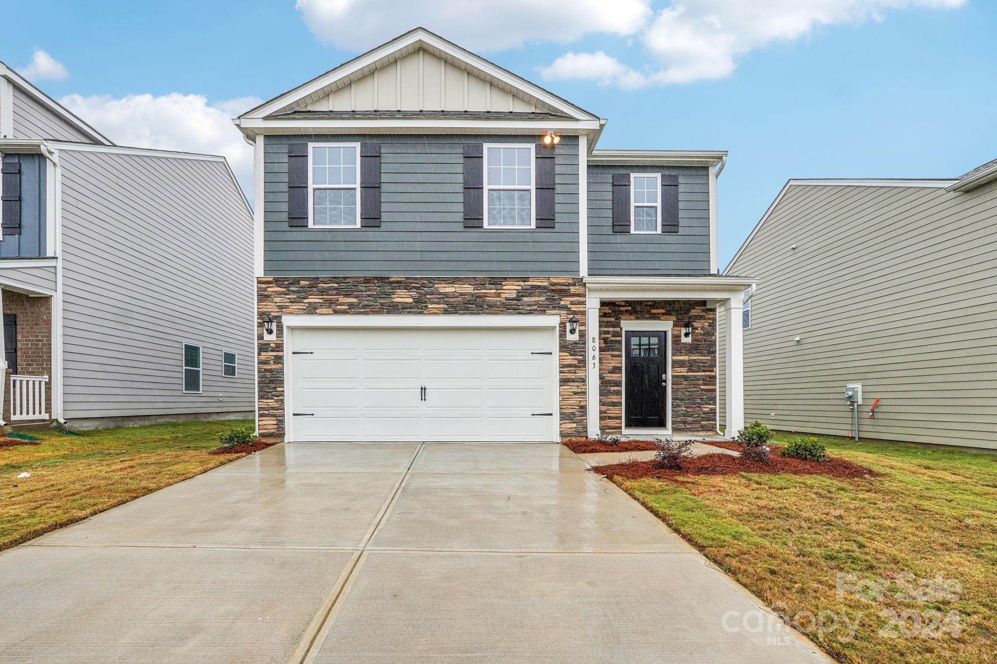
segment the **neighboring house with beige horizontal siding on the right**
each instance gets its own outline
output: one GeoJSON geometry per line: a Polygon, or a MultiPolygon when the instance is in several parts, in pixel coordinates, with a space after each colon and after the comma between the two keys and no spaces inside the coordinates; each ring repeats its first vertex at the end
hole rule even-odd
{"type": "Polygon", "coordinates": [[[727,268],[759,281],[746,417],[848,435],[857,383],[862,438],[997,448],[995,226],[997,160],[955,179],[790,180],[727,268]]]}

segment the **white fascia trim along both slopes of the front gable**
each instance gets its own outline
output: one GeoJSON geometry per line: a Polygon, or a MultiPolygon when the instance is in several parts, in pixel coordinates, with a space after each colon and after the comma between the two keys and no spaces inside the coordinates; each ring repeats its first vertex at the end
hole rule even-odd
{"type": "Polygon", "coordinates": [[[578,107],[568,103],[566,100],[562,100],[539,86],[515,76],[511,72],[498,67],[498,65],[485,60],[481,56],[462,49],[453,42],[449,42],[426,30],[425,28],[416,28],[415,30],[407,32],[404,35],[387,42],[386,44],[382,44],[376,49],[368,51],[367,53],[358,56],[343,65],[340,65],[336,69],[326,72],[325,74],[322,74],[317,78],[298,86],[297,88],[289,90],[283,95],[275,97],[255,109],[242,113],[239,115],[239,118],[264,117],[272,112],[279,111],[284,107],[290,106],[305,97],[313,95],[327,86],[334,85],[338,81],[349,79],[356,73],[375,65],[378,61],[388,58],[396,52],[404,52],[405,55],[408,55],[408,53],[412,53],[417,48],[421,48],[422,46],[429,47],[429,50],[431,51],[445,54],[446,56],[449,56],[449,59],[465,64],[473,70],[477,70],[481,74],[484,74],[485,78],[496,79],[510,88],[517,89],[522,93],[537,99],[552,109],[566,112],[572,117],[576,117],[578,119],[598,119],[588,111],[579,109],[578,107]]]}

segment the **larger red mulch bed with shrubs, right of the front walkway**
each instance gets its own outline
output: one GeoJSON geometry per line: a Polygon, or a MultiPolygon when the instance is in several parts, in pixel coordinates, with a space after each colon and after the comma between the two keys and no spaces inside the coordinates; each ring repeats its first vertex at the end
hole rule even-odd
{"type": "MultiPolygon", "coordinates": [[[[713,443],[718,447],[741,451],[739,443],[713,443]],[[737,447],[729,447],[736,445],[737,447]]],[[[628,480],[653,477],[671,480],[684,475],[732,475],[735,473],[792,473],[794,475],[829,475],[846,479],[881,477],[882,473],[853,464],[839,457],[828,457],[827,461],[804,461],[792,457],[781,457],[775,452],[769,463],[748,461],[730,454],[704,454],[692,457],[683,462],[682,470],[656,468],[653,461],[625,461],[618,464],[606,464],[590,468],[593,473],[607,477],[618,476],[628,480]]]]}

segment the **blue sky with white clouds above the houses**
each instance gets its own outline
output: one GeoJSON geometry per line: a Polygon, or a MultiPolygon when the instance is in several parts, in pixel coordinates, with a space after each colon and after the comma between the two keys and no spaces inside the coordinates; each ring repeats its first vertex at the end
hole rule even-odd
{"type": "Polygon", "coordinates": [[[0,2],[0,60],[45,51],[68,76],[36,68],[36,85],[112,139],[225,153],[244,183],[226,120],[245,98],[426,25],[609,118],[600,147],[730,150],[722,267],[789,178],[949,177],[997,157],[984,0],[0,2]]]}

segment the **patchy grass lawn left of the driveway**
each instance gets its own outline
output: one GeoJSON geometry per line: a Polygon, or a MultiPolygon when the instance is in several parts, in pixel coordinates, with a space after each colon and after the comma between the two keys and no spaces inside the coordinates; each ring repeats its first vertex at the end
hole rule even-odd
{"type": "Polygon", "coordinates": [[[85,431],[29,431],[38,445],[0,447],[0,550],[238,459],[210,455],[218,433],[251,421],[85,431]],[[31,477],[18,479],[21,473],[31,477]]]}

